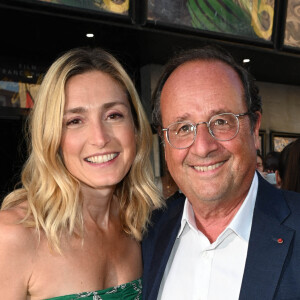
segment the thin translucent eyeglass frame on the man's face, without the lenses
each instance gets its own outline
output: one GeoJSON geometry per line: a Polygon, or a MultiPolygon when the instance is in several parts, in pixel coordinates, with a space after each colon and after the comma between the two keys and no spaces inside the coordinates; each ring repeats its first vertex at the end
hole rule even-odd
{"type": "Polygon", "coordinates": [[[170,144],[171,147],[173,147],[173,148],[175,148],[175,149],[187,149],[187,148],[191,147],[191,146],[195,143],[195,140],[196,140],[196,136],[197,136],[197,127],[198,127],[198,125],[201,125],[201,124],[206,124],[206,128],[208,129],[209,134],[210,134],[216,141],[227,142],[227,141],[230,141],[230,140],[234,139],[234,138],[237,136],[237,134],[239,133],[239,130],[240,130],[240,121],[239,121],[239,117],[248,116],[248,115],[251,115],[251,112],[250,112],[250,111],[247,111],[247,112],[241,113],[241,114],[234,114],[234,113],[230,113],[230,112],[229,112],[229,113],[227,113],[227,112],[226,112],[226,113],[220,113],[220,114],[213,115],[213,116],[209,119],[208,122],[198,122],[198,123],[196,123],[196,124],[193,124],[193,123],[190,123],[190,122],[185,122],[185,121],[183,121],[183,122],[174,122],[174,123],[171,123],[168,127],[162,128],[161,131],[165,131],[165,132],[166,132],[166,137],[167,137],[168,143],[170,144]],[[236,120],[237,120],[237,130],[236,130],[236,133],[235,133],[234,136],[233,136],[232,138],[230,138],[230,139],[225,139],[225,140],[223,140],[223,139],[218,139],[218,138],[216,138],[216,137],[214,136],[214,133],[213,133],[212,130],[210,129],[210,122],[211,122],[211,120],[212,120],[214,117],[216,117],[216,116],[222,116],[222,115],[233,115],[233,116],[236,118],[236,120]],[[192,142],[189,146],[184,147],[184,148],[174,147],[174,146],[171,144],[170,140],[169,140],[169,128],[170,128],[170,126],[172,126],[172,125],[174,125],[174,124],[178,124],[178,123],[186,123],[186,124],[192,125],[192,127],[193,127],[193,129],[194,129],[193,142],[192,142]]]}

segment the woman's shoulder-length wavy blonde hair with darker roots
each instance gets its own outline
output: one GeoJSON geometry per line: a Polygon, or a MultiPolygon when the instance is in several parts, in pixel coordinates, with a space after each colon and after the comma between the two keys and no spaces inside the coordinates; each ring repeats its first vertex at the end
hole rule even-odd
{"type": "Polygon", "coordinates": [[[58,252],[62,234],[83,237],[84,227],[80,184],[60,154],[65,85],[70,77],[94,70],[109,74],[125,88],[135,122],[137,154],[115,190],[123,230],[141,240],[151,211],[161,206],[150,163],[152,131],[131,79],[106,51],[72,49],[52,64],[43,79],[29,117],[30,154],[22,171],[22,188],[6,196],[2,204],[6,210],[27,200],[27,213],[21,222],[39,234],[42,230],[58,252]]]}

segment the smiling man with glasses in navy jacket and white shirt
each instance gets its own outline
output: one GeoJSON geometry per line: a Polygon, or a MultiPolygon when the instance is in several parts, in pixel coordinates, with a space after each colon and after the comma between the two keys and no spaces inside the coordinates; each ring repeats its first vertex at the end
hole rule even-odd
{"type": "Polygon", "coordinates": [[[300,195],[255,171],[262,104],[250,74],[223,49],[187,50],[153,99],[182,193],[143,240],[143,299],[300,299],[300,195]]]}

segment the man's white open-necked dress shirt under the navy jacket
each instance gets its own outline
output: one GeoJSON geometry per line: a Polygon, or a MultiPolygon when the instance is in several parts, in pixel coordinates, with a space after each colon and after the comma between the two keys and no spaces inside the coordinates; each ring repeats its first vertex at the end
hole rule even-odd
{"type": "Polygon", "coordinates": [[[255,173],[248,195],[214,243],[197,229],[185,200],[181,227],[160,285],[159,300],[239,298],[258,188],[255,173]]]}

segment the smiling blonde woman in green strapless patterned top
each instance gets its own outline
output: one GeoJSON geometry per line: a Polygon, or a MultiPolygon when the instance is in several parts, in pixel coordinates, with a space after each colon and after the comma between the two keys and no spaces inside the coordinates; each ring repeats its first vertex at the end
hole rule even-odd
{"type": "Polygon", "coordinates": [[[70,50],[29,125],[23,186],[0,212],[1,299],[141,299],[139,241],[161,202],[129,76],[101,49],[70,50]]]}

